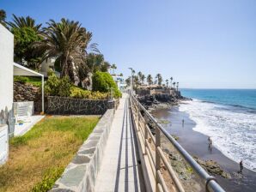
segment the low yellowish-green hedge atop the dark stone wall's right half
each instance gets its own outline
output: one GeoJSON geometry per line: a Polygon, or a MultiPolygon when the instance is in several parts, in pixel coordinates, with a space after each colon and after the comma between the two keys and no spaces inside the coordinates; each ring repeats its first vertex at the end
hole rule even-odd
{"type": "Polygon", "coordinates": [[[76,99],[107,99],[108,93],[91,92],[79,87],[72,87],[70,97],[76,99]]]}

